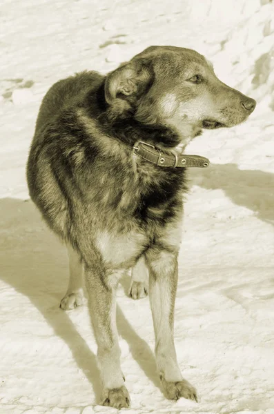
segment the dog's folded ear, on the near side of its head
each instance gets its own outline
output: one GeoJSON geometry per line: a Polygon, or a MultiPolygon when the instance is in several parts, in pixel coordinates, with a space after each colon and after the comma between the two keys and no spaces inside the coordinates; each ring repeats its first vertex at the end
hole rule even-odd
{"type": "Polygon", "coordinates": [[[110,106],[130,109],[153,82],[153,70],[141,61],[123,63],[106,77],[105,98],[110,106]]]}

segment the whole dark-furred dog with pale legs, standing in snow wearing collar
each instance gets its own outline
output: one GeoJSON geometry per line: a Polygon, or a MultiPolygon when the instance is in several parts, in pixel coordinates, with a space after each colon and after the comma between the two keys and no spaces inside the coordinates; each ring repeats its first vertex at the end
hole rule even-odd
{"type": "Polygon", "coordinates": [[[173,314],[186,170],[208,163],[187,159],[184,148],[204,128],[245,121],[255,105],[222,83],[198,52],[173,46],[150,46],[106,76],[68,77],[44,97],[28,187],[68,247],[70,282],[61,308],[82,304],[84,270],[102,405],[130,404],[115,322],[115,291],[130,268],[130,295],[149,293],[164,395],[197,401],[177,363],[173,314]]]}

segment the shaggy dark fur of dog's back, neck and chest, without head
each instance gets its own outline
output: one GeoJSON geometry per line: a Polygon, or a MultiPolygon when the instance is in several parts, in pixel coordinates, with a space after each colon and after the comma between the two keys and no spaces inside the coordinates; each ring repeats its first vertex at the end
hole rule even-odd
{"type": "Polygon", "coordinates": [[[97,72],[83,72],[50,88],[28,161],[30,196],[50,228],[84,259],[98,224],[119,233],[141,228],[146,249],[155,228],[181,212],[186,190],[184,169],[160,170],[132,159],[136,141],[174,147],[179,135],[167,126],[141,124],[134,110],[123,117],[113,113],[105,81],[97,72]]]}

